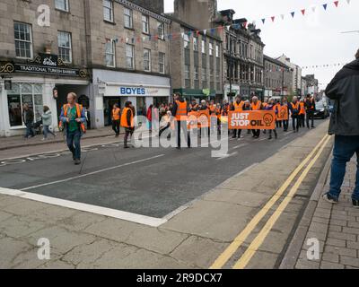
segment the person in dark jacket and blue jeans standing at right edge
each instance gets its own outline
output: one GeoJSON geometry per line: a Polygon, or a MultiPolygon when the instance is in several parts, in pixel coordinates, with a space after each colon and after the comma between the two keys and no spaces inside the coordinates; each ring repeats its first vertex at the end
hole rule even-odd
{"type": "Polygon", "coordinates": [[[356,184],[352,196],[353,205],[359,208],[359,50],[355,61],[345,65],[325,91],[334,100],[334,112],[330,117],[329,135],[335,135],[330,189],[323,197],[337,204],[344,177],[346,162],[356,153],[356,184]]]}

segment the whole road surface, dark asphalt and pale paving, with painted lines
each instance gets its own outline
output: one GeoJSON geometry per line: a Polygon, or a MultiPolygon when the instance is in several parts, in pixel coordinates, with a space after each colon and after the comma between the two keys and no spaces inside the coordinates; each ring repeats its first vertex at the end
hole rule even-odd
{"type": "Polygon", "coordinates": [[[1,161],[0,267],[278,268],[331,151],[318,125],[245,135],[223,159],[112,142],[86,148],[82,168],[66,152],[1,161]]]}

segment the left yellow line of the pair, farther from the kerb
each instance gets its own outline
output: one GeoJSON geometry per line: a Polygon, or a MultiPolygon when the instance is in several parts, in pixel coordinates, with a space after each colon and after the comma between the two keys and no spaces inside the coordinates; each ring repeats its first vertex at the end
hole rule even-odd
{"type": "Polygon", "coordinates": [[[283,196],[285,193],[286,188],[288,188],[293,181],[293,179],[299,174],[302,168],[307,164],[308,161],[311,160],[311,157],[317,152],[322,143],[328,138],[328,135],[325,135],[321,140],[320,143],[311,151],[308,157],[302,161],[302,163],[293,171],[293,173],[285,180],[285,183],[282,187],[280,187],[274,196],[267,202],[267,204],[254,216],[250,223],[245,227],[244,230],[233,240],[228,248],[226,248],[223,253],[215,260],[215,263],[211,265],[210,269],[221,269],[223,265],[227,263],[227,261],[232,257],[232,255],[237,251],[238,248],[241,247],[241,244],[244,242],[245,239],[250,235],[251,231],[256,228],[258,222],[262,220],[262,218],[266,215],[267,211],[276,204],[276,201],[283,196]]]}

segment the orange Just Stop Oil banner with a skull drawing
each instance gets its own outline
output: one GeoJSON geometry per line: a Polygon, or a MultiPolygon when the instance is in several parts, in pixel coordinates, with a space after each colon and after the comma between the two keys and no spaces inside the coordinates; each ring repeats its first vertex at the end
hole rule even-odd
{"type": "Polygon", "coordinates": [[[230,111],[229,129],[275,129],[276,113],[274,110],[230,111]]]}

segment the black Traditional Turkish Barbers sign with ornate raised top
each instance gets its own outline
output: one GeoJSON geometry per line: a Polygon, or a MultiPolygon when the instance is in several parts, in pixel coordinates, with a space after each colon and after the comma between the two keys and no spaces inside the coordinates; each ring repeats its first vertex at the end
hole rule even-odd
{"type": "Polygon", "coordinates": [[[85,69],[69,68],[57,55],[39,54],[35,59],[26,63],[0,63],[0,73],[29,73],[29,74],[56,74],[86,78],[85,69]]]}

